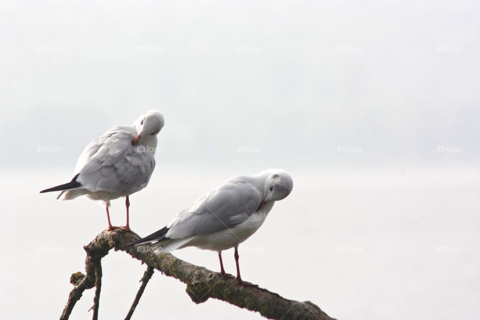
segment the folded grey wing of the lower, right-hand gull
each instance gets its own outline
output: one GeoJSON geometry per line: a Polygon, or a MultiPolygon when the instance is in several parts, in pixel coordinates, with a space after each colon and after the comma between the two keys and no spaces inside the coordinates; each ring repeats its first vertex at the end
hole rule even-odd
{"type": "Polygon", "coordinates": [[[183,210],[168,227],[169,238],[208,234],[245,221],[256,211],[260,192],[244,181],[227,181],[183,210]]]}

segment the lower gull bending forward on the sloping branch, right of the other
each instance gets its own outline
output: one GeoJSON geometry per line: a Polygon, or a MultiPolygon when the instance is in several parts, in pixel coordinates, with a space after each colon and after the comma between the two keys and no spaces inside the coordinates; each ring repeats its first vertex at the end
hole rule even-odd
{"type": "Polygon", "coordinates": [[[290,194],[293,180],[281,169],[253,176],[236,176],[210,190],[162,229],[125,245],[153,242],[157,253],[187,246],[218,252],[220,273],[225,274],[221,251],[235,248],[236,279],[243,283],[238,266],[238,244],[260,227],[275,201],[290,194]]]}

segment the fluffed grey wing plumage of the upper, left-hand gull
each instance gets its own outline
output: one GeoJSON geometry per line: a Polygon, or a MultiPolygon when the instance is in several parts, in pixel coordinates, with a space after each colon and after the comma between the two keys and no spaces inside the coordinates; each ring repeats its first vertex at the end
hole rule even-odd
{"type": "Polygon", "coordinates": [[[145,187],[155,161],[131,144],[133,138],[129,130],[114,127],[91,141],[75,168],[78,181],[89,191],[133,193],[145,187]]]}

